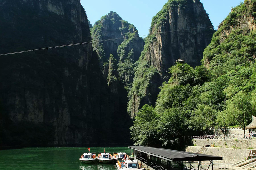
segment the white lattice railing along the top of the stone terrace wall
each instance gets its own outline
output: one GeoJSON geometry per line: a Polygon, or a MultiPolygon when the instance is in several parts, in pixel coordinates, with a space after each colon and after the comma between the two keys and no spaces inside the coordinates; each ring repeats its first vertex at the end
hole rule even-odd
{"type": "Polygon", "coordinates": [[[188,139],[252,139],[256,138],[256,133],[250,134],[226,134],[226,135],[208,135],[208,136],[188,136],[188,139]]]}

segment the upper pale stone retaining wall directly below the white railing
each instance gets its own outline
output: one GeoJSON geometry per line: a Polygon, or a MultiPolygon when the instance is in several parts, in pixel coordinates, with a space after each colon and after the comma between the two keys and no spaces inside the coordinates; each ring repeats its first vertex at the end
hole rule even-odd
{"type": "Polygon", "coordinates": [[[222,148],[256,149],[256,139],[194,139],[194,146],[205,146],[214,144],[222,148]]]}

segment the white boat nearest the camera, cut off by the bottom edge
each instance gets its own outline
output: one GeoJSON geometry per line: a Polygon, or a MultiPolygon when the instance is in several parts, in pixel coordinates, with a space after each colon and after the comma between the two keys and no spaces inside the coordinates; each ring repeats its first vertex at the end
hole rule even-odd
{"type": "Polygon", "coordinates": [[[137,160],[124,160],[124,161],[117,161],[116,166],[118,170],[144,170],[141,168],[137,160]]]}

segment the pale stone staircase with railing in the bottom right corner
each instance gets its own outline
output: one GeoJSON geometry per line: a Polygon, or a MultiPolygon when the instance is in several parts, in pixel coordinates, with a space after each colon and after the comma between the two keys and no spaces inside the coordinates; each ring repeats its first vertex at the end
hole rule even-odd
{"type": "Polygon", "coordinates": [[[246,160],[237,162],[233,167],[241,167],[243,169],[256,170],[256,153],[250,154],[246,160]]]}

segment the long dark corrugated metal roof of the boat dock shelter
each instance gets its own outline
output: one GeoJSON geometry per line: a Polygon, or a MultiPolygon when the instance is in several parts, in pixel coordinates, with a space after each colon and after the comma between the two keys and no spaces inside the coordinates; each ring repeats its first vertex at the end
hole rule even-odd
{"type": "Polygon", "coordinates": [[[177,161],[206,161],[206,160],[222,160],[222,157],[211,156],[204,154],[196,154],[190,152],[182,152],[177,150],[153,148],[144,146],[130,146],[129,148],[156,156],[162,159],[170,160],[173,162],[177,161]]]}

